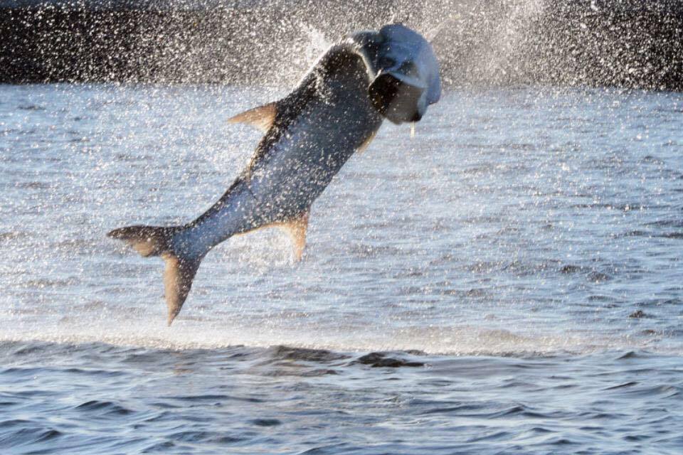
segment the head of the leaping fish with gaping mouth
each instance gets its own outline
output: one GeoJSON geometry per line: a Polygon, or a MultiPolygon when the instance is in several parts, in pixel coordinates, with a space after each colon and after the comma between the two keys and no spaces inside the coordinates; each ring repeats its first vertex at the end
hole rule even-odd
{"type": "Polygon", "coordinates": [[[376,42],[372,105],[395,124],[418,122],[441,96],[439,63],[430,43],[401,24],[383,26],[376,42]]]}

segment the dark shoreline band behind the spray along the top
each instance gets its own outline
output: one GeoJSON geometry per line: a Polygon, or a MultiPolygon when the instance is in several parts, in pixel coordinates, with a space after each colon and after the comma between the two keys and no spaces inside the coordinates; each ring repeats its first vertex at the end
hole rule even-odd
{"type": "Polygon", "coordinates": [[[448,85],[683,90],[683,1],[529,3],[0,1],[0,82],[279,83],[306,70],[307,27],[333,40],[452,15],[433,41],[448,85]]]}

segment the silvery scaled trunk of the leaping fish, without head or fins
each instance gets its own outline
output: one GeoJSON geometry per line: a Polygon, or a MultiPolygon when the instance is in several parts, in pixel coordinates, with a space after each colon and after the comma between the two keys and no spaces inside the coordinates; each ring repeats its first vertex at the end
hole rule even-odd
{"type": "Polygon", "coordinates": [[[232,235],[308,213],[383,120],[365,94],[364,65],[352,69],[323,80],[320,74],[307,78],[276,103],[278,113],[254,159],[223,197],[177,237],[176,248],[186,245],[188,253],[201,255],[232,235]]]}

